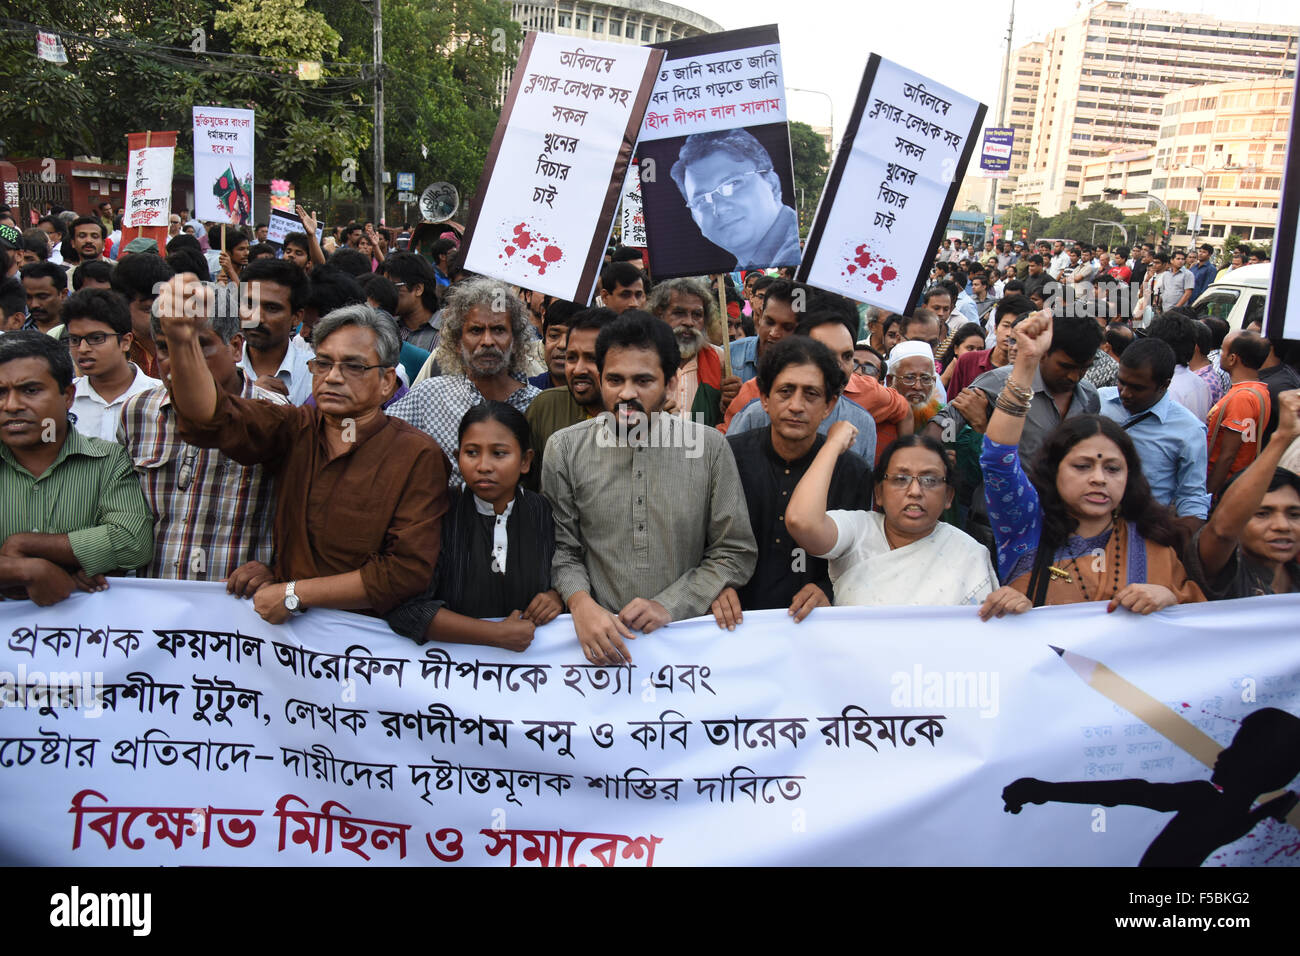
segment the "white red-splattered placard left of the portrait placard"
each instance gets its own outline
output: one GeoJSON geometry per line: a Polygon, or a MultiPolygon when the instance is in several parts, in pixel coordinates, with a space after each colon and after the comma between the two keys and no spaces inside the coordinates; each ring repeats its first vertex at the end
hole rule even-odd
{"type": "Polygon", "coordinates": [[[462,246],[471,272],[588,302],[663,51],[530,33],[462,246]]]}

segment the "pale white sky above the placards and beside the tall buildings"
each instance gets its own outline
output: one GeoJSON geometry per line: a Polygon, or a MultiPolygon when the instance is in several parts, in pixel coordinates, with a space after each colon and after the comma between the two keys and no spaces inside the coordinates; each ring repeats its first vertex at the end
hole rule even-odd
{"type": "MultiPolygon", "coordinates": [[[[789,116],[810,126],[827,126],[833,120],[836,143],[853,109],[868,53],[879,53],[987,103],[989,125],[996,118],[1011,0],[926,0],[914,8],[923,12],[922,17],[909,17],[909,4],[883,0],[676,3],[728,30],[776,23],[781,31],[789,116]],[[792,87],[820,92],[798,92],[792,87]]],[[[1238,0],[1230,8],[1222,0],[1184,0],[1179,4],[1139,0],[1130,5],[1247,22],[1300,25],[1300,3],[1296,0],[1238,0]]],[[[1075,0],[1018,0],[1013,48],[1043,39],[1049,30],[1069,22],[1078,8],[1075,0]]]]}

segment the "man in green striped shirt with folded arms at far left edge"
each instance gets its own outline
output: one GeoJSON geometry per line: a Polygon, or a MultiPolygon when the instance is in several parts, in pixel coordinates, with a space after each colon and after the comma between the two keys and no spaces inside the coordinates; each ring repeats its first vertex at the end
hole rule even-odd
{"type": "Polygon", "coordinates": [[[38,605],[103,591],[153,555],[153,522],[126,450],[72,428],[68,349],[0,337],[0,593],[38,605]]]}

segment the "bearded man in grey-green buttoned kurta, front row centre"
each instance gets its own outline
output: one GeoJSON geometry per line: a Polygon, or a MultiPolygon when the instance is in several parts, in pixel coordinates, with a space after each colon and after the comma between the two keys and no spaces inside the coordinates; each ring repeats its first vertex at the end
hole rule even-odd
{"type": "Polygon", "coordinates": [[[597,336],[602,415],[549,442],[542,493],[555,518],[551,583],[592,663],[627,640],[705,614],[750,579],[757,546],[736,459],[714,428],[664,414],[681,352],[630,310],[597,336]]]}

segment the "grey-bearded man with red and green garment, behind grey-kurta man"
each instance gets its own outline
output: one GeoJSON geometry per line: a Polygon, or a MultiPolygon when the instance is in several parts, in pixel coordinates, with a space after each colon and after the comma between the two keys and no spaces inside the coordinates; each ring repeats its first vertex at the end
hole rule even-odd
{"type": "Polygon", "coordinates": [[[670,411],[706,425],[723,420],[723,410],[740,393],[740,378],[723,377],[722,349],[708,342],[714,303],[708,290],[693,278],[671,278],[650,293],[647,310],[672,329],[681,352],[670,411]]]}

